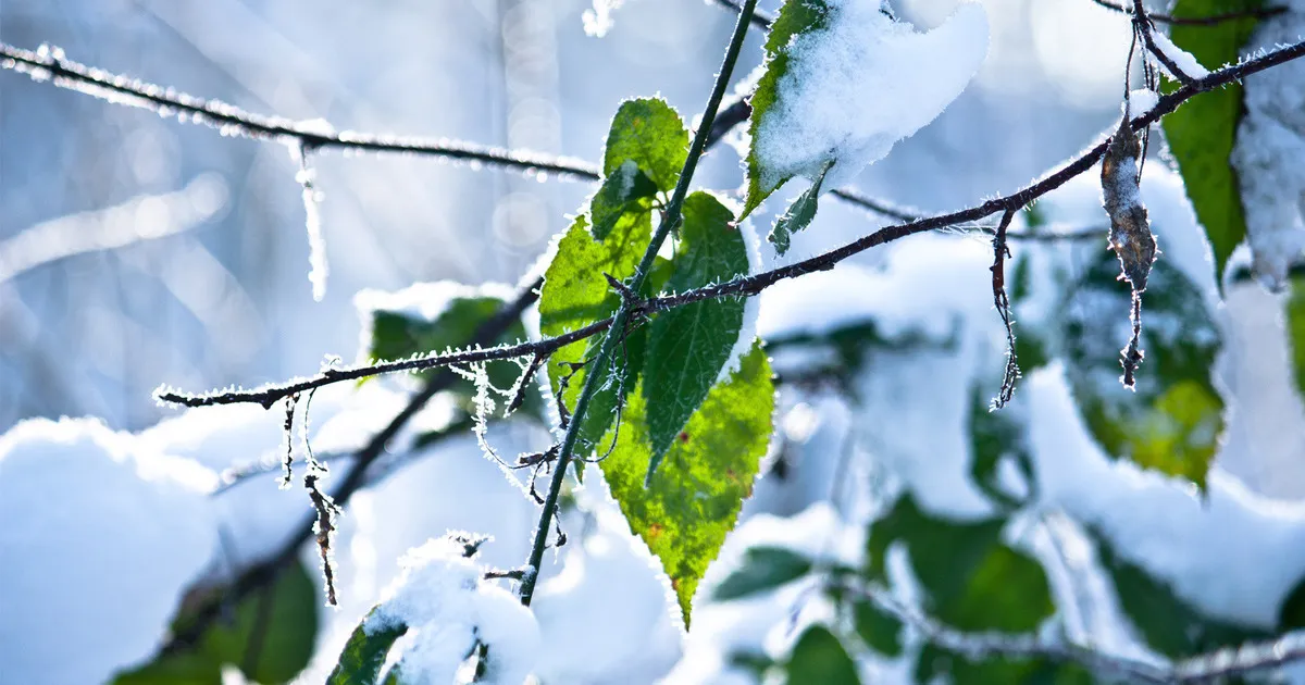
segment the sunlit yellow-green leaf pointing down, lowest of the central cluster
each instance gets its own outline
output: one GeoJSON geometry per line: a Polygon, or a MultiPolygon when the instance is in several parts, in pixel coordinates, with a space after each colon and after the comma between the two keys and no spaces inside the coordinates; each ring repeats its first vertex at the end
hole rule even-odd
{"type": "Polygon", "coordinates": [[[652,455],[643,397],[630,394],[622,421],[604,438],[619,433],[616,449],[599,464],[630,530],[671,577],[688,625],[698,581],[752,493],[770,441],[775,410],[770,363],[754,344],[739,371],[711,389],[646,488],[652,455]]]}

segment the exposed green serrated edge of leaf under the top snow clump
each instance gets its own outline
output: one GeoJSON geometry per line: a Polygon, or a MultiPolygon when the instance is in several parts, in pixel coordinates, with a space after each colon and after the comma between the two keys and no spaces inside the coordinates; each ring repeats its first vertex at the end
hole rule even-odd
{"type": "Polygon", "coordinates": [[[770,35],[766,37],[766,64],[765,73],[757,81],[757,90],[752,93],[752,117],[748,123],[748,133],[752,136],[752,147],[748,150],[748,200],[743,207],[744,217],[776,188],[783,185],[792,176],[775,177],[776,175],[765,168],[757,157],[756,141],[762,121],[779,99],[779,82],[788,73],[788,50],[792,40],[804,33],[818,31],[826,26],[829,20],[829,5],[823,0],[787,0],[779,8],[779,16],[770,26],[770,35]]]}

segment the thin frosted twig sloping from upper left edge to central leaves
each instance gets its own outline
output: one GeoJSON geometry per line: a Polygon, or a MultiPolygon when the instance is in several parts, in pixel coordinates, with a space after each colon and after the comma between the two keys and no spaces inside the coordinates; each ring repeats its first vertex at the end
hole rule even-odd
{"type": "Polygon", "coordinates": [[[256,115],[224,102],[196,98],[176,93],[171,87],[87,67],[67,59],[59,48],[42,47],[34,52],[0,43],[0,68],[26,73],[37,81],[48,80],[56,86],[104,98],[117,104],[142,107],[162,116],[175,115],[183,121],[206,124],[221,130],[223,136],[299,144],[305,150],[335,149],[433,155],[527,174],[556,174],[561,177],[585,180],[602,179],[598,167],[581,159],[529,150],[505,150],[452,138],[423,138],[354,130],[337,133],[325,124],[256,115]]]}

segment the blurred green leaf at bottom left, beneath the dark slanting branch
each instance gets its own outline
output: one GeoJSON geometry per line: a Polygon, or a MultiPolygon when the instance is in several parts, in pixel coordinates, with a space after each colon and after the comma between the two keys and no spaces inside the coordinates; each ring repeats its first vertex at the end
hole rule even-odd
{"type": "MultiPolygon", "coordinates": [[[[235,665],[264,685],[288,682],[308,665],[317,639],[317,587],[301,564],[281,573],[265,594],[241,601],[230,622],[217,622],[196,646],[123,673],[115,685],[217,685],[235,665]]],[[[184,629],[191,616],[176,621],[184,629]]]]}

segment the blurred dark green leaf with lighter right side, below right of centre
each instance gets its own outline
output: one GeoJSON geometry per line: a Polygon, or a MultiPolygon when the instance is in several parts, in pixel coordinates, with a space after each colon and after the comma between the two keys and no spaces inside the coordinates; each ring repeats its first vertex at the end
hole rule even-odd
{"type": "Polygon", "coordinates": [[[1004,526],[936,518],[903,496],[870,526],[869,575],[886,577],[887,548],[900,541],[932,616],[960,630],[1032,632],[1056,609],[1051,587],[1041,565],[1001,543],[1004,526]]]}

